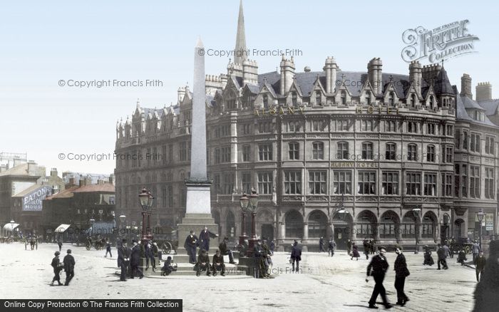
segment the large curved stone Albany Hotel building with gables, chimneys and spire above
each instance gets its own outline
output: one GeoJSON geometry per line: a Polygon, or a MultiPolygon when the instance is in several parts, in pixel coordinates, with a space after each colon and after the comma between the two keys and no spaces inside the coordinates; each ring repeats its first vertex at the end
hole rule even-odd
{"type": "MultiPolygon", "coordinates": [[[[243,20],[241,8],[236,51],[245,49],[243,20]]],[[[293,57],[282,56],[279,71],[259,74],[242,53],[227,73],[206,77],[207,162],[220,234],[240,235],[238,201],[252,187],[257,234],[280,246],[301,239],[314,249],[330,235],[340,247],[371,237],[405,246],[416,236],[419,244],[477,237],[480,209],[487,234],[497,232],[499,128],[486,111],[498,115],[498,104],[476,102],[470,90],[469,76],[458,93],[440,65],[413,62],[408,75],[384,73],[373,58],[366,72],[353,72],[327,57],[322,71],[299,72],[293,57]],[[418,218],[413,209],[421,209],[418,218]]],[[[143,185],[155,194],[157,224],[175,225],[185,214],[191,110],[186,86],[176,105],[137,103],[118,122],[117,207],[128,221],[139,222],[143,185]]]]}

